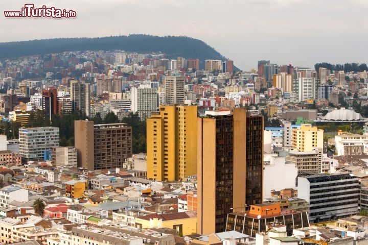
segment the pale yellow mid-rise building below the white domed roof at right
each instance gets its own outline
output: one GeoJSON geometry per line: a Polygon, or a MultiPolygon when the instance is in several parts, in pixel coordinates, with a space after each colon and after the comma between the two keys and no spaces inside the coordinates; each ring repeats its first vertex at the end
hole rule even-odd
{"type": "Polygon", "coordinates": [[[302,124],[300,129],[293,129],[293,147],[301,152],[312,151],[314,147],[323,149],[324,131],[310,124],[302,124]]]}

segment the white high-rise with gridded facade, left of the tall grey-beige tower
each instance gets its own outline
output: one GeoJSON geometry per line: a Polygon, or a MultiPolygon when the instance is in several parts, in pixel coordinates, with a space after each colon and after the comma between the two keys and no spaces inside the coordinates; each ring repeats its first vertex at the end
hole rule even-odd
{"type": "Polygon", "coordinates": [[[157,111],[157,89],[132,87],[131,111],[138,112],[142,120],[150,117],[152,112],[157,111]]]}

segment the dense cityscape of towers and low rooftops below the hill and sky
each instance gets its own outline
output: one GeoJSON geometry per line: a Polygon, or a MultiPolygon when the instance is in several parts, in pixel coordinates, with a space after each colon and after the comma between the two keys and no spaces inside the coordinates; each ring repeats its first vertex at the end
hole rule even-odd
{"type": "Polygon", "coordinates": [[[0,60],[1,244],[368,243],[366,64],[168,57],[0,60]]]}

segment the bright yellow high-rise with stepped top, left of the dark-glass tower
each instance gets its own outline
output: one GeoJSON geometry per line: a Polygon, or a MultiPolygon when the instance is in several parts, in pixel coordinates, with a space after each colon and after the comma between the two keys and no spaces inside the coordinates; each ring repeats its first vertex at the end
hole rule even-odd
{"type": "Polygon", "coordinates": [[[197,173],[197,106],[160,106],[147,118],[147,178],[185,180],[197,173]]]}

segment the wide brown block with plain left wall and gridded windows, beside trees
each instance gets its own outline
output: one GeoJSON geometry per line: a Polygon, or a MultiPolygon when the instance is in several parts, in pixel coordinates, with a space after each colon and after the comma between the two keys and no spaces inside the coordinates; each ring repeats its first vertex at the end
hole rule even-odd
{"type": "Polygon", "coordinates": [[[132,129],[126,124],[74,121],[78,166],[88,170],[122,167],[132,155],[132,129]]]}

